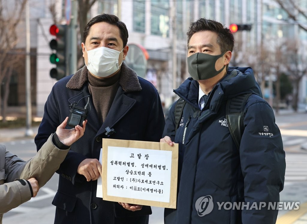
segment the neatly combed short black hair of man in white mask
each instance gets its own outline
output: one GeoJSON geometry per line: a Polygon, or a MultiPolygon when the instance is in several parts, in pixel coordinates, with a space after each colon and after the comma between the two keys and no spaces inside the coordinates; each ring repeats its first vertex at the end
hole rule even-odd
{"type": "Polygon", "coordinates": [[[119,20],[119,18],[115,15],[111,14],[101,14],[98,16],[95,16],[90,20],[90,22],[87,23],[87,25],[84,27],[84,32],[83,32],[83,43],[85,44],[86,37],[88,36],[88,33],[90,32],[91,26],[93,26],[95,23],[98,22],[106,22],[111,25],[117,26],[119,28],[119,34],[120,37],[122,38],[122,43],[123,47],[127,45],[128,41],[128,30],[122,21],[119,20]]]}

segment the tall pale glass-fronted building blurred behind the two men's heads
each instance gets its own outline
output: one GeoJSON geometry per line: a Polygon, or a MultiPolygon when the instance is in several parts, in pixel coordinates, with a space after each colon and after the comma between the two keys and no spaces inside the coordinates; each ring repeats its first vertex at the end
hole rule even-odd
{"type": "MultiPolygon", "coordinates": [[[[61,1],[59,4],[64,6],[61,1]]],[[[176,97],[173,89],[189,77],[186,32],[190,23],[205,17],[226,26],[231,23],[252,24],[251,31],[235,33],[240,43],[239,51],[247,51],[256,49],[260,43],[260,28],[255,26],[260,23],[260,11],[258,0],[97,0],[88,18],[109,13],[125,22],[129,32],[128,45],[141,45],[149,55],[147,71],[139,75],[155,85],[168,108],[176,97]]],[[[248,61],[243,61],[243,54],[235,54],[234,65],[248,65],[248,61]]]]}

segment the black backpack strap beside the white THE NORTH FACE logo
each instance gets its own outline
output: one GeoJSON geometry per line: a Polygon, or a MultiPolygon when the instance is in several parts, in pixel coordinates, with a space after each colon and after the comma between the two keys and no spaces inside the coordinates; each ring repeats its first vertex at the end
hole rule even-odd
{"type": "Polygon", "coordinates": [[[227,100],[226,120],[232,139],[236,147],[240,148],[241,138],[244,131],[244,108],[246,101],[252,93],[244,93],[227,100]]]}

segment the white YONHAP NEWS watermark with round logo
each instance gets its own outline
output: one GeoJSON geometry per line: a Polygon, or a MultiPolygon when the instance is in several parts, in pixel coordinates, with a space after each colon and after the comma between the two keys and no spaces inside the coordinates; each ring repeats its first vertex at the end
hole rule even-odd
{"type": "MultiPolygon", "coordinates": [[[[218,210],[298,210],[300,202],[216,202],[218,210]]],[[[195,208],[199,216],[212,212],[214,207],[211,195],[197,199],[195,208]]]]}

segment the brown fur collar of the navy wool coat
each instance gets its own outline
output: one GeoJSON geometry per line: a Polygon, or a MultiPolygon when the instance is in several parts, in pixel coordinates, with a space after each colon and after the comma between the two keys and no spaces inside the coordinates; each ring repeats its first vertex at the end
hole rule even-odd
{"type": "MultiPolygon", "coordinates": [[[[66,84],[70,89],[81,89],[82,86],[88,82],[87,67],[79,69],[66,84]]],[[[138,81],[137,74],[130,69],[124,62],[122,62],[121,75],[119,78],[119,84],[125,92],[141,91],[142,87],[138,81]]]]}

